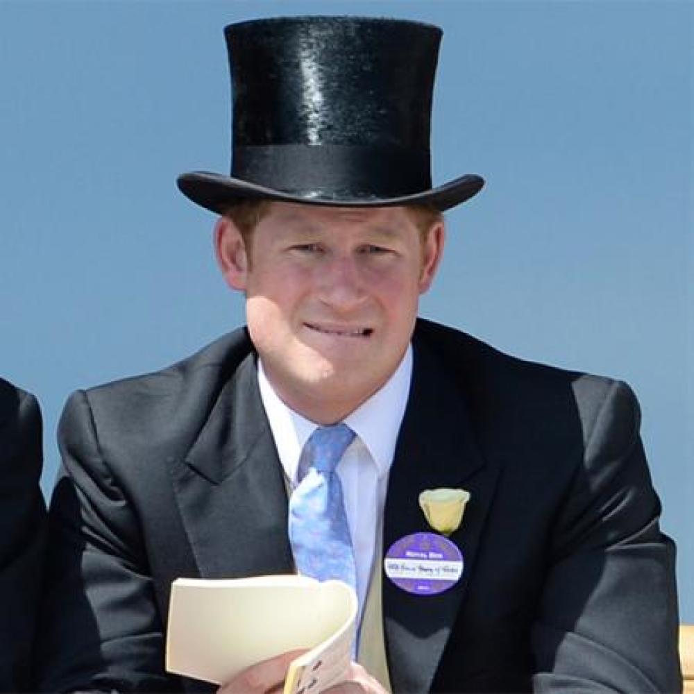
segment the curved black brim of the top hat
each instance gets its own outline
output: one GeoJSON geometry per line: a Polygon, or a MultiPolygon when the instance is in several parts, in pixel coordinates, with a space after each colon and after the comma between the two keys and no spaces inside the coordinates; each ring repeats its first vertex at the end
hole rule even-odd
{"type": "Polygon", "coordinates": [[[393,205],[427,205],[443,212],[476,195],[484,186],[484,178],[466,174],[443,185],[425,191],[396,197],[341,198],[316,194],[293,194],[256,183],[213,174],[209,171],[194,171],[182,174],[176,180],[178,189],[189,200],[217,214],[224,214],[231,205],[244,200],[275,200],[304,205],[328,205],[330,207],[372,208],[393,205]]]}

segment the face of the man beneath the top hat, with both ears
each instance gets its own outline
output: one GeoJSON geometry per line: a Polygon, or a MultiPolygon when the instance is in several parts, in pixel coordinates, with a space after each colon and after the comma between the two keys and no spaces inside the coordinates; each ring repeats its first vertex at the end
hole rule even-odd
{"type": "Polygon", "coordinates": [[[403,207],[271,203],[250,254],[228,219],[217,223],[216,244],[228,284],[246,293],[248,330],[274,389],[307,418],[332,423],[400,363],[443,224],[422,241],[403,207]]]}

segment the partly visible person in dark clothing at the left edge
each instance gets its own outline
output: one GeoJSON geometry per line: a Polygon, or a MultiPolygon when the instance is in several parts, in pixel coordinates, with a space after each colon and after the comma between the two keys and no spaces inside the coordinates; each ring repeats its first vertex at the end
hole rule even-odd
{"type": "Polygon", "coordinates": [[[0,378],[0,691],[28,691],[46,509],[36,399],[0,378]]]}

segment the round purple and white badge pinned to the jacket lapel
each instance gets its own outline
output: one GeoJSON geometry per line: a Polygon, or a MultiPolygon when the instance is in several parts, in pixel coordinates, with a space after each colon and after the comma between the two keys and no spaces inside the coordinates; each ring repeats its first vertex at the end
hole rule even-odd
{"type": "Polygon", "coordinates": [[[414,595],[437,595],[463,575],[462,552],[449,539],[432,532],[416,532],[391,545],[383,567],[398,588],[414,595]]]}

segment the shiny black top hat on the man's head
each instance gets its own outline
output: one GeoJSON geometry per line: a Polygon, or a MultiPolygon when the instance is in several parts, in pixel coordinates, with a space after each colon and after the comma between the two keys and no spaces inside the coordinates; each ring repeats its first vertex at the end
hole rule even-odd
{"type": "Polygon", "coordinates": [[[179,176],[195,203],[218,213],[249,198],[446,210],[484,185],[468,174],[432,189],[438,27],[285,17],[230,24],[224,33],[234,100],[231,176],[179,176]]]}

